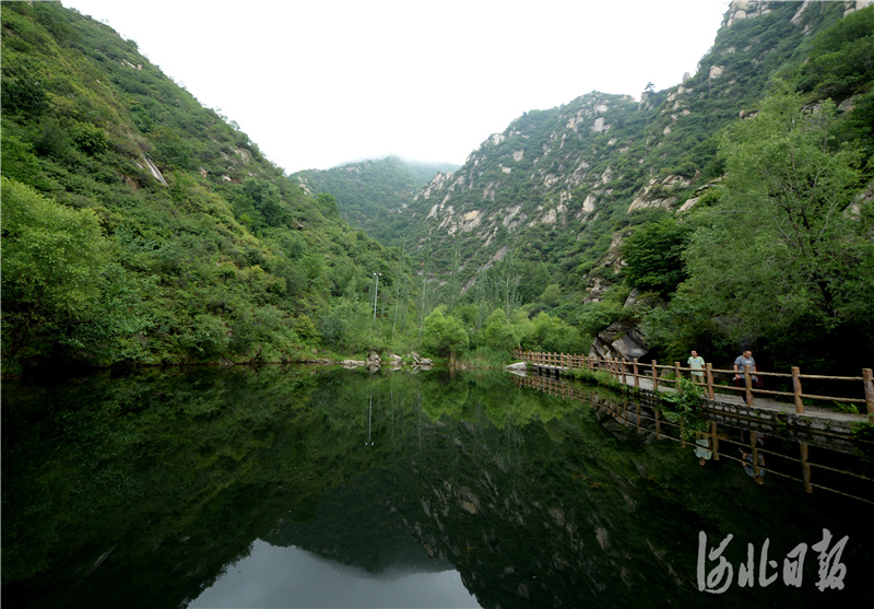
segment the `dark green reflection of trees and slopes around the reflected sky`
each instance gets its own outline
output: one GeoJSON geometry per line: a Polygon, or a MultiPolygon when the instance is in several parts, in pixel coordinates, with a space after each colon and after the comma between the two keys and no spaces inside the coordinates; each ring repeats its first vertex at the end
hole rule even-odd
{"type": "MultiPolygon", "coordinates": [[[[49,530],[59,541],[37,557],[47,567],[9,587],[7,573],[20,561],[15,536],[34,524],[14,522],[22,512],[14,497],[38,496],[47,478],[11,479],[4,469],[4,501],[13,497],[3,515],[4,601],[10,589],[46,598],[50,587],[61,598],[79,586],[81,598],[99,604],[117,598],[125,582],[126,598],[133,592],[151,606],[177,605],[258,538],[371,571],[397,561],[425,569],[412,536],[427,554],[450,561],[484,606],[707,605],[694,583],[699,530],[739,536],[739,551],[743,535],[781,548],[823,526],[845,534],[847,519],[834,515],[845,507],[824,507],[824,493],[800,500],[773,484],[753,494],[760,489],[740,467],[714,476],[690,449],[604,424],[592,408],[519,390],[505,377],[461,375],[450,384],[439,373],[312,377],[267,368],[194,378],[122,379],[101,391],[80,384],[58,399],[97,401],[27,442],[21,425],[7,425],[4,410],[4,447],[19,441],[14,459],[29,455],[76,489],[56,485],[45,504],[28,506],[47,515],[35,534],[49,530]],[[371,396],[374,446],[366,447],[362,412],[371,396]],[[137,415],[119,418],[119,408],[137,415]],[[113,426],[95,428],[99,420],[113,426]],[[63,434],[78,438],[82,455],[39,456],[63,434]],[[110,478],[95,476],[83,458],[98,447],[110,478]],[[119,479],[128,481],[123,497],[111,487],[119,479]],[[52,512],[59,500],[69,508],[52,512]],[[88,505],[103,512],[88,515],[88,505]],[[76,579],[76,570],[87,572],[114,546],[110,560],[76,579]],[[50,586],[40,578],[46,569],[50,586]]],[[[7,456],[4,468],[16,462],[7,456]]],[[[852,552],[850,564],[870,559],[852,552]]],[[[767,604],[772,588],[755,600],[767,604]]]]}

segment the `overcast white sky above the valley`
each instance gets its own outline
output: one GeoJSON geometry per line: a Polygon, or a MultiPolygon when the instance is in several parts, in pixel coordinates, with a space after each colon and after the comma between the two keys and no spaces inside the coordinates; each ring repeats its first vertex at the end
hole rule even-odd
{"type": "Polygon", "coordinates": [[[62,0],[104,21],[288,173],[462,164],[531,109],[682,82],[728,0],[62,0]]]}

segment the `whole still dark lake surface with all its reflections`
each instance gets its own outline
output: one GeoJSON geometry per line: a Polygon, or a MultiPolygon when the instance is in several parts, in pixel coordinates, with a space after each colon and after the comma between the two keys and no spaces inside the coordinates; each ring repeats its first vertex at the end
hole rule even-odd
{"type": "Polygon", "coordinates": [[[4,383],[3,606],[872,606],[870,445],[720,422],[698,446],[563,387],[311,367],[4,383]]]}

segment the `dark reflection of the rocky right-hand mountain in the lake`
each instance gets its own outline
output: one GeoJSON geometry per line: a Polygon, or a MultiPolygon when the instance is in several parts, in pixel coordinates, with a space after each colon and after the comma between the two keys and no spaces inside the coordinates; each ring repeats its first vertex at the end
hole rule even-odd
{"type": "MultiPolygon", "coordinates": [[[[415,390],[428,394],[427,385],[415,390]]],[[[770,478],[763,495],[730,459],[701,469],[690,446],[605,417],[615,406],[604,398],[544,420],[566,408],[547,400],[519,419],[533,395],[468,385],[451,415],[432,420],[409,408],[418,394],[405,403],[403,391],[383,400],[374,417],[378,469],[329,493],[312,520],[283,525],[286,542],[379,570],[412,535],[459,570],[486,607],[706,606],[716,598],[697,590],[699,530],[792,548],[820,534],[831,516],[824,520],[818,510],[834,514],[837,505],[834,495],[810,497],[770,478]],[[377,538],[386,542],[374,544],[377,538]]],[[[446,412],[442,403],[422,400],[422,408],[446,412]]],[[[854,552],[863,564],[859,547],[854,552]]],[[[786,594],[736,588],[732,598],[767,605],[786,594]]]]}

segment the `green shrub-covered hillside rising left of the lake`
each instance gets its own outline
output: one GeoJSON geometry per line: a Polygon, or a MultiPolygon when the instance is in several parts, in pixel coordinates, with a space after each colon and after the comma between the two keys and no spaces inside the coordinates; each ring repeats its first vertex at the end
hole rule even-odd
{"type": "Polygon", "coordinates": [[[332,197],[109,27],[56,2],[3,2],[2,26],[4,373],[389,344],[368,289],[404,265],[332,197]]]}

